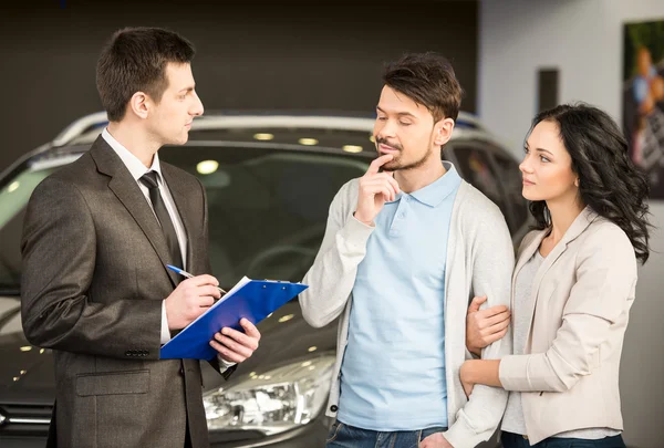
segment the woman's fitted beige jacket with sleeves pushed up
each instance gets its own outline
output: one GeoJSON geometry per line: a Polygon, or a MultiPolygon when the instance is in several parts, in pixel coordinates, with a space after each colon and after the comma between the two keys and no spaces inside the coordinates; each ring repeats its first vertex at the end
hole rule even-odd
{"type": "MultiPolygon", "coordinates": [[[[526,236],[512,277],[547,230],[526,236]]],[[[530,444],[582,428],[623,429],[618,376],[636,257],[627,236],[587,207],[537,271],[525,355],[500,363],[500,382],[520,390],[530,444]]]]}

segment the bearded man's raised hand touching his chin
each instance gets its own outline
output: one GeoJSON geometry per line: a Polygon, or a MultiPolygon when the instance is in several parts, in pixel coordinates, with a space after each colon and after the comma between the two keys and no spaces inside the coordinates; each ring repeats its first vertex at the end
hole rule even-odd
{"type": "Polygon", "coordinates": [[[394,173],[378,173],[378,169],[392,160],[392,154],[385,154],[371,163],[369,169],[360,178],[357,208],[355,219],[371,225],[383,209],[385,201],[394,200],[400,192],[398,184],[394,180],[394,173]]]}

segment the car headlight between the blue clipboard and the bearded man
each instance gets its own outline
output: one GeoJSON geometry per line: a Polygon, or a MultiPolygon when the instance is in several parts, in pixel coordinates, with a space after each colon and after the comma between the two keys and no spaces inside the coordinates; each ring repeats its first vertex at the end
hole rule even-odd
{"type": "Polygon", "coordinates": [[[334,356],[300,361],[203,397],[208,428],[252,429],[269,436],[307,425],[328,400],[334,356]]]}

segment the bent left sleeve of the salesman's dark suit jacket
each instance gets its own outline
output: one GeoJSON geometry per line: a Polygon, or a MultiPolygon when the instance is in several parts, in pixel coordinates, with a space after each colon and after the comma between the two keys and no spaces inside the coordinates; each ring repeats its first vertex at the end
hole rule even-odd
{"type": "Polygon", "coordinates": [[[93,216],[79,189],[53,177],[30,198],[21,243],[21,316],[31,344],[66,352],[158,358],[162,300],[91,300],[97,267],[93,216]],[[146,329],[154,329],[149,331],[146,329]]]}

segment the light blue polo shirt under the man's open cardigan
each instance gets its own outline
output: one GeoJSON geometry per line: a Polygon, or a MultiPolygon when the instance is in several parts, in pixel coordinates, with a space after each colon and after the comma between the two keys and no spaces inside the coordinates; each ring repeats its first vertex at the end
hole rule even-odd
{"type": "Polygon", "coordinates": [[[447,427],[445,261],[460,177],[386,202],[353,286],[338,418],[377,431],[447,427]]]}

